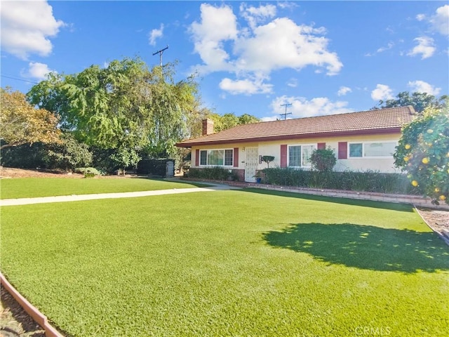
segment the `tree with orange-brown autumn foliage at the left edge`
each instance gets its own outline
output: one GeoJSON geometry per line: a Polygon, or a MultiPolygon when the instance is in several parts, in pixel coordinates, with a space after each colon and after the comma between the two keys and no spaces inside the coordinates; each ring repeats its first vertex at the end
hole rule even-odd
{"type": "Polygon", "coordinates": [[[0,88],[0,150],[36,142],[60,142],[58,117],[44,109],[35,109],[25,95],[11,88],[0,88]]]}

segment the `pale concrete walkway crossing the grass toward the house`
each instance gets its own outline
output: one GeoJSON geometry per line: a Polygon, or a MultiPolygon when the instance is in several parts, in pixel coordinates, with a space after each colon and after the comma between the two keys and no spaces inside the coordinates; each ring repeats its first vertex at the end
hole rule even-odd
{"type": "Polygon", "coordinates": [[[173,188],[171,190],[140,191],[140,192],[118,192],[118,193],[79,194],[79,195],[73,194],[73,195],[61,195],[58,197],[3,199],[3,200],[0,200],[0,206],[46,204],[46,203],[50,203],[50,202],[83,201],[83,200],[94,200],[94,199],[135,198],[135,197],[149,197],[149,196],[153,196],[153,195],[163,195],[163,194],[213,192],[213,191],[240,189],[240,187],[231,187],[228,185],[220,185],[220,184],[208,184],[208,185],[213,185],[213,186],[212,187],[173,188]]]}

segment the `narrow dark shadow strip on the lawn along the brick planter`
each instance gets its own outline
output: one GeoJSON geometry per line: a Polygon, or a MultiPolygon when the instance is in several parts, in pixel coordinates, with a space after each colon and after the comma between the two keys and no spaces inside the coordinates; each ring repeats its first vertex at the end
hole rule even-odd
{"type": "Polygon", "coordinates": [[[349,198],[342,198],[342,197],[326,197],[326,196],[322,196],[322,195],[296,193],[296,192],[261,190],[258,188],[245,188],[245,189],[239,190],[239,191],[257,193],[257,194],[279,195],[280,197],[289,197],[289,198],[297,198],[297,199],[326,201],[326,202],[333,202],[335,204],[363,206],[363,207],[371,207],[371,208],[375,208],[375,209],[391,209],[394,211],[413,212],[413,206],[410,204],[397,204],[397,203],[393,203],[393,202],[359,200],[359,199],[349,199],[349,198]]]}

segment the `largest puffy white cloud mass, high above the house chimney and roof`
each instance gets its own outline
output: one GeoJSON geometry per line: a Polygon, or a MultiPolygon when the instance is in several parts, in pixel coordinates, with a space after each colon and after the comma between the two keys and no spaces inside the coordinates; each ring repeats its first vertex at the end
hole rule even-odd
{"type": "MultiPolygon", "coordinates": [[[[274,18],[276,6],[240,6],[240,15],[248,27],[237,25],[232,8],[201,4],[201,20],[193,22],[189,33],[194,51],[203,63],[196,65],[200,73],[227,71],[245,78],[267,78],[274,70],[314,66],[328,75],[342,69],[337,53],[328,51],[329,40],[324,27],[297,25],[288,18],[274,18]],[[261,23],[269,21],[268,23],[261,23]]],[[[232,81],[225,81],[229,84],[232,81]]],[[[265,90],[257,91],[265,92],[265,90]]]]}

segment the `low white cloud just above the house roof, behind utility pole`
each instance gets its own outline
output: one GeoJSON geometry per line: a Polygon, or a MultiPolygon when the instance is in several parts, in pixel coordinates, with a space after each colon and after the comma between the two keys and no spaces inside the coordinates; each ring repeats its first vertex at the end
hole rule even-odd
{"type": "Polygon", "coordinates": [[[347,107],[348,103],[344,101],[332,102],[326,97],[316,97],[311,100],[307,100],[304,97],[287,97],[283,95],[275,98],[271,103],[272,113],[274,116],[265,117],[263,120],[276,120],[281,119],[281,114],[286,112],[285,107],[281,106],[286,103],[291,103],[287,112],[291,112],[288,118],[302,118],[302,117],[314,117],[323,116],[327,114],[344,114],[346,112],[353,112],[354,110],[347,107]]]}

